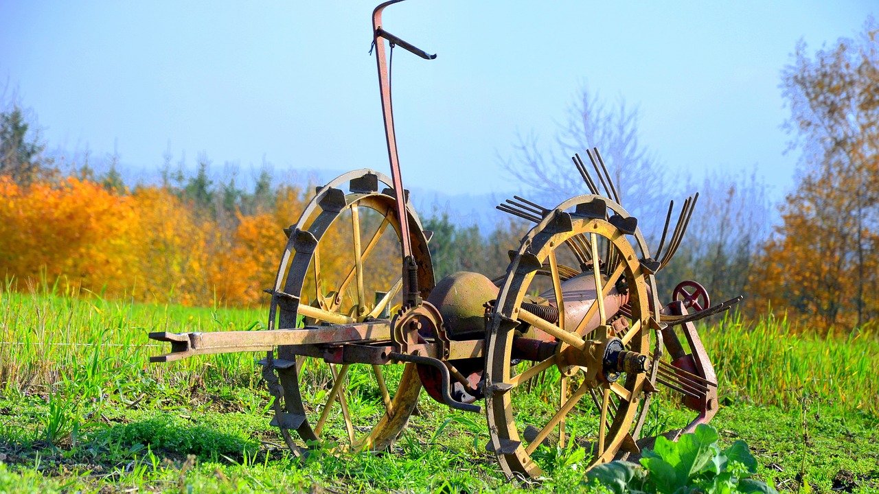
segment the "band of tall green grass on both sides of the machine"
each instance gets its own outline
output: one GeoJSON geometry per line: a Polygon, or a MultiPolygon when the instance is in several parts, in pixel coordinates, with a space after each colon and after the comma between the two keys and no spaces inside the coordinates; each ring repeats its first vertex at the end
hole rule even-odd
{"type": "MultiPolygon", "coordinates": [[[[117,394],[134,399],[144,387],[191,388],[203,379],[258,386],[253,353],[209,355],[163,365],[167,352],[150,331],[263,328],[263,309],[204,309],[70,296],[53,287],[0,292],[0,389],[79,398],[117,394]]],[[[845,410],[879,414],[879,338],[873,333],[821,338],[795,334],[785,319],[758,323],[727,317],[700,331],[718,374],[721,396],[793,406],[804,395],[845,410]]]]}

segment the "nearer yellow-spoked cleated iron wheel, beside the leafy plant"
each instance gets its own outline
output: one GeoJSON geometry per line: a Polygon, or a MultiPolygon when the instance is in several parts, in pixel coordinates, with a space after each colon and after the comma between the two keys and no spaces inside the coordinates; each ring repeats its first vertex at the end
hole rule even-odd
{"type": "Polygon", "coordinates": [[[613,201],[580,196],[549,211],[512,259],[486,350],[491,447],[507,475],[541,476],[556,446],[583,448],[590,466],[636,449],[660,346],[650,347],[657,291],[634,223],[613,201]],[[538,347],[532,365],[519,363],[538,347]]]}

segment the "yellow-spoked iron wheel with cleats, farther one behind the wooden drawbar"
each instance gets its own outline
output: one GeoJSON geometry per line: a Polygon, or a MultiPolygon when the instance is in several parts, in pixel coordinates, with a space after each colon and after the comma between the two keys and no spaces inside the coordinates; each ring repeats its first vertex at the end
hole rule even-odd
{"type": "MultiPolygon", "coordinates": [[[[375,171],[352,171],[318,190],[290,228],[270,329],[308,325],[332,331],[338,324],[388,318],[400,304],[400,222],[392,192],[379,192],[381,182],[387,185],[390,179],[375,171]]],[[[433,287],[427,241],[411,210],[409,222],[419,287],[426,296],[433,287]]],[[[421,381],[414,365],[342,360],[342,346],[331,341],[280,346],[277,355],[269,353],[264,374],[275,396],[272,424],[294,454],[336,445],[386,449],[415,408],[421,381]]]]}

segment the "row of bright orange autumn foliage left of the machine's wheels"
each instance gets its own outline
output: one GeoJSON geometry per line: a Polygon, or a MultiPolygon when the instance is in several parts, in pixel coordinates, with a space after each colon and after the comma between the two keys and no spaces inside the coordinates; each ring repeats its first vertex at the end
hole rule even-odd
{"type": "Polygon", "coordinates": [[[0,177],[0,275],[22,287],[45,276],[140,301],[259,304],[283,229],[305,205],[296,187],[281,187],[275,203],[221,228],[162,187],[112,193],[78,178],[22,187],[0,177]]]}

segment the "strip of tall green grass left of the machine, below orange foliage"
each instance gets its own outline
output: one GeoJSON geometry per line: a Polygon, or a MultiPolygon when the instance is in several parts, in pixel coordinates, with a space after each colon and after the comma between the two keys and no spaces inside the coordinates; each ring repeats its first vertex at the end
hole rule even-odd
{"type": "Polygon", "coordinates": [[[98,294],[0,291],[0,389],[26,392],[63,387],[80,397],[124,393],[139,383],[191,386],[210,376],[255,384],[252,353],[229,353],[150,365],[169,345],[150,331],[262,329],[265,311],[184,308],[107,300],[98,294]],[[146,381],[146,382],[144,382],[146,381]]]}

